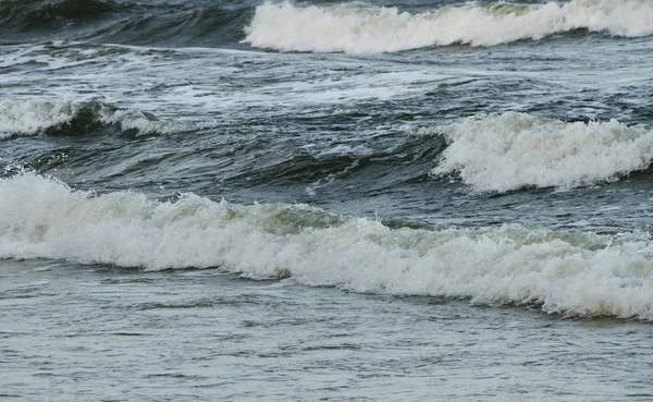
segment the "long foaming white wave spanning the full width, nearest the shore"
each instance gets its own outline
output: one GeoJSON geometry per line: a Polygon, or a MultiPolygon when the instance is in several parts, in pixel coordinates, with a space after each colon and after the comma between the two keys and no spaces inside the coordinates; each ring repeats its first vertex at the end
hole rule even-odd
{"type": "Polygon", "coordinates": [[[146,269],[221,267],[359,292],[534,304],[572,316],[653,318],[653,240],[518,224],[390,229],[301,205],[160,203],[76,192],[32,173],[0,180],[0,257],[146,269]]]}

